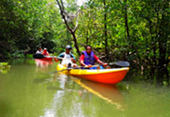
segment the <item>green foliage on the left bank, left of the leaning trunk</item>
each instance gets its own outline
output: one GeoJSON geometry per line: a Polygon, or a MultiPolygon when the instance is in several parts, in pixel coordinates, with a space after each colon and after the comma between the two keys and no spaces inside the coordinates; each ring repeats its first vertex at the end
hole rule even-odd
{"type": "Polygon", "coordinates": [[[33,53],[39,46],[53,52],[56,39],[67,33],[55,0],[2,0],[0,9],[0,58],[20,50],[33,53]]]}

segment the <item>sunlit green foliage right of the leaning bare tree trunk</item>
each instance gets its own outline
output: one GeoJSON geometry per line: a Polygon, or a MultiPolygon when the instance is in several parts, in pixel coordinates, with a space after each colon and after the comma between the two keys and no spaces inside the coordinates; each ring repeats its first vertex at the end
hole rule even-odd
{"type": "Polygon", "coordinates": [[[107,0],[104,7],[103,1],[89,1],[80,16],[79,42],[105,48],[104,23],[107,23],[108,48],[110,55],[115,55],[112,59],[160,65],[170,54],[168,4],[168,1],[107,0]],[[130,38],[126,34],[126,13],[130,38]]]}

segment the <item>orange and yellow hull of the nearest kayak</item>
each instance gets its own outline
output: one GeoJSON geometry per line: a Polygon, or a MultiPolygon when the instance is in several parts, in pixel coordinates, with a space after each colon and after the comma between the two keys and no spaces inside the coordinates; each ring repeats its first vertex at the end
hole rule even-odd
{"type": "MultiPolygon", "coordinates": [[[[57,66],[57,70],[63,70],[66,67],[62,65],[57,66]]],[[[91,80],[106,84],[116,84],[123,80],[129,71],[128,67],[125,68],[113,68],[113,69],[71,69],[65,70],[63,73],[74,77],[91,80]]]]}

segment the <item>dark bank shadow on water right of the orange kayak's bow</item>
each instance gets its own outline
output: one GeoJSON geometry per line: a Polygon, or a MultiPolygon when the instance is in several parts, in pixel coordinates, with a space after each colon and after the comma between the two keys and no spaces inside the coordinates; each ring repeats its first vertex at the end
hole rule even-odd
{"type": "Polygon", "coordinates": [[[124,81],[140,82],[142,80],[154,85],[170,86],[169,76],[170,67],[164,67],[161,69],[151,67],[149,69],[144,69],[142,72],[140,70],[131,68],[124,81]]]}

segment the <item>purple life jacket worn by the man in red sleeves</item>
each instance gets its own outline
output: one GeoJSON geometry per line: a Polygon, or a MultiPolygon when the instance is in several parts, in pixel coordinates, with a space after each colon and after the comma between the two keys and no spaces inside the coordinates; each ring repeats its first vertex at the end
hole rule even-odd
{"type": "Polygon", "coordinates": [[[95,58],[94,58],[94,52],[93,51],[91,51],[90,55],[87,54],[86,51],[83,51],[83,54],[85,56],[84,57],[84,63],[86,65],[89,65],[89,64],[94,65],[95,64],[95,58]]]}

